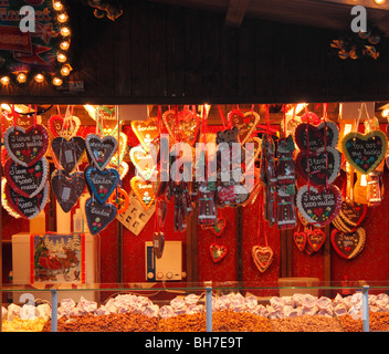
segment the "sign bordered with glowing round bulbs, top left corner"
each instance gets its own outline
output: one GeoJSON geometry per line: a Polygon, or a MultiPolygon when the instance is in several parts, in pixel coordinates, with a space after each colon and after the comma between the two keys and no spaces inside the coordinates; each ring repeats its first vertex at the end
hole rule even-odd
{"type": "Polygon", "coordinates": [[[72,71],[72,31],[65,6],[60,0],[35,1],[34,31],[22,32],[19,10],[25,4],[22,0],[8,0],[1,7],[4,19],[0,25],[0,87],[45,81],[61,86],[72,71]]]}

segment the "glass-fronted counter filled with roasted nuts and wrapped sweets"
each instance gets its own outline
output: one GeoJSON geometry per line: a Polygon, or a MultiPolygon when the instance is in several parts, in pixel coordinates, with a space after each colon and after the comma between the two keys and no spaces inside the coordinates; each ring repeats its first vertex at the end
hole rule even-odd
{"type": "Polygon", "coordinates": [[[281,283],[6,284],[12,303],[2,305],[2,331],[389,331],[389,282],[281,283]]]}

